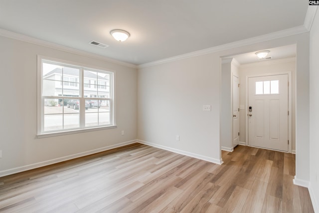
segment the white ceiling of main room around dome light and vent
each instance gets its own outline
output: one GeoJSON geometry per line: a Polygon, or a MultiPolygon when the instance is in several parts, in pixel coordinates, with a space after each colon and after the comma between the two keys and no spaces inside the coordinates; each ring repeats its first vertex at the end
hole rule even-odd
{"type": "Polygon", "coordinates": [[[0,28],[144,64],[301,26],[307,8],[306,0],[0,0],[0,28]],[[112,29],[131,37],[119,43],[112,29]]]}

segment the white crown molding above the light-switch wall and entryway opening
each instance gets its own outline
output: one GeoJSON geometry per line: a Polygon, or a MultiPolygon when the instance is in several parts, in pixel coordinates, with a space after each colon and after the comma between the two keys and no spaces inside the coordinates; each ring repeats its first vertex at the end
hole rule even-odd
{"type": "Polygon", "coordinates": [[[228,49],[241,47],[241,46],[245,46],[245,45],[250,45],[250,44],[254,44],[254,43],[260,43],[260,42],[264,42],[264,41],[268,41],[268,40],[272,40],[272,39],[287,37],[287,36],[291,36],[291,35],[297,35],[297,34],[301,34],[301,33],[305,33],[305,32],[309,32],[309,30],[307,30],[306,27],[303,25],[297,26],[297,27],[292,27],[289,29],[284,29],[284,30],[272,32],[272,33],[265,34],[265,35],[247,38],[244,40],[239,40],[239,41],[235,41],[235,42],[231,42],[231,43],[227,43],[227,44],[223,44],[223,45],[219,45],[219,46],[214,46],[214,47],[207,48],[207,49],[202,49],[202,50],[198,50],[198,51],[194,51],[194,52],[176,55],[176,56],[169,57],[169,58],[164,58],[164,59],[149,62],[149,63],[140,64],[140,65],[138,65],[138,68],[156,66],[159,64],[163,64],[163,63],[168,63],[168,62],[172,62],[172,61],[182,60],[182,59],[196,57],[196,56],[205,55],[205,54],[210,54],[210,53],[228,50],[228,49]]]}

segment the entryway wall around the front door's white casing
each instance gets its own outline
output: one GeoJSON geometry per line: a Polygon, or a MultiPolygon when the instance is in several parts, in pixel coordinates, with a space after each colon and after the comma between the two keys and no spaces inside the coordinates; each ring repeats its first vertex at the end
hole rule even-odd
{"type": "MultiPolygon", "coordinates": [[[[267,73],[292,72],[292,150],[296,150],[296,58],[261,61],[240,66],[240,104],[246,106],[246,76],[262,75],[267,73]]],[[[240,110],[240,141],[246,141],[247,109],[240,110]]]]}

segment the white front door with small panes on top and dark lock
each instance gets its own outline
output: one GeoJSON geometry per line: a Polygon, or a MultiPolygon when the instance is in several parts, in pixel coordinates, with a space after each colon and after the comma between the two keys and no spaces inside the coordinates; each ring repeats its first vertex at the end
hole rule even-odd
{"type": "Polygon", "coordinates": [[[288,74],[248,78],[248,144],[288,151],[288,74]]]}

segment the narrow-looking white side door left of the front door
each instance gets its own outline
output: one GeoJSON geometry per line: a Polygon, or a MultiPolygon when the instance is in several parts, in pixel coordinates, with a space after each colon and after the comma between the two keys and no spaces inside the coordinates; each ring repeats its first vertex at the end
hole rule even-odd
{"type": "Polygon", "coordinates": [[[233,75],[233,147],[239,144],[239,79],[233,75]]]}

